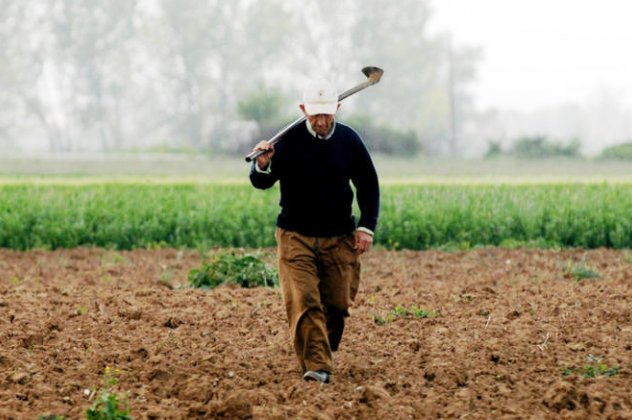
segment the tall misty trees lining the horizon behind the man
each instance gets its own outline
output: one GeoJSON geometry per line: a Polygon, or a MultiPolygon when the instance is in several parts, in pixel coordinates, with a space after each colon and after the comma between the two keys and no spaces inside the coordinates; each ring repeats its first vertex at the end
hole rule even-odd
{"type": "Polygon", "coordinates": [[[298,115],[308,76],[342,90],[384,153],[458,153],[476,50],[428,33],[429,0],[0,0],[0,150],[242,153],[298,115]],[[364,119],[363,119],[364,118],[364,119]]]}

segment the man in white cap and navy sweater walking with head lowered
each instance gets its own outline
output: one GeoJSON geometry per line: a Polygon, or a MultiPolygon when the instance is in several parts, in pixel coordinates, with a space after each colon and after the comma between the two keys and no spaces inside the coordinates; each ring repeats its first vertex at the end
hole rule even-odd
{"type": "Polygon", "coordinates": [[[278,180],[281,213],[276,240],[283,300],[303,378],[328,383],[332,351],[360,283],[359,256],[371,248],[380,193],[377,174],[360,136],[335,121],[340,104],[333,85],[305,87],[298,124],[276,147],[266,141],[250,171],[256,188],[278,180]],[[352,215],[356,187],[361,212],[352,215]]]}

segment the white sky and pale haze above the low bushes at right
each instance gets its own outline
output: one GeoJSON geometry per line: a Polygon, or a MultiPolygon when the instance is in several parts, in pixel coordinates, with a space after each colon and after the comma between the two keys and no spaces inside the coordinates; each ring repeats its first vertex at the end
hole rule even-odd
{"type": "Polygon", "coordinates": [[[431,27],[479,46],[472,136],[576,138],[594,155],[632,140],[632,3],[440,0],[431,27]],[[476,123],[478,122],[478,124],[476,123]]]}

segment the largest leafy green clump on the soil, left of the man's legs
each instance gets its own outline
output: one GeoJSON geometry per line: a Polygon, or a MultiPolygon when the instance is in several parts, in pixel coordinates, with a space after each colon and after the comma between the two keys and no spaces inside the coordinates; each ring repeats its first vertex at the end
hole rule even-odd
{"type": "Polygon", "coordinates": [[[214,288],[221,284],[237,284],[241,287],[276,287],[278,273],[268,268],[254,255],[239,256],[219,253],[210,262],[189,272],[189,283],[194,287],[214,288]]]}

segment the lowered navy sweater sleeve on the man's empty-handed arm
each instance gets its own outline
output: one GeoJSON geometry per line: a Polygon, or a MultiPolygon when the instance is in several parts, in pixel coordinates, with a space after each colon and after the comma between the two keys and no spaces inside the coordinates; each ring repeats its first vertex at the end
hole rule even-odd
{"type": "Polygon", "coordinates": [[[364,227],[375,232],[380,212],[380,186],[377,172],[371,156],[361,140],[358,141],[355,155],[356,163],[351,181],[356,187],[358,207],[360,207],[358,227],[364,227]]]}

